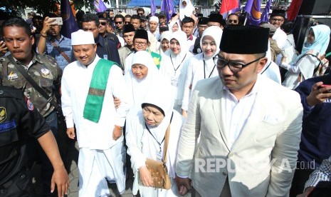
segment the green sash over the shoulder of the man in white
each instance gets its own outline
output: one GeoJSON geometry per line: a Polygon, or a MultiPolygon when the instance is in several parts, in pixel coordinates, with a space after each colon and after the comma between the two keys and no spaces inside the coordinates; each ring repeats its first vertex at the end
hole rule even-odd
{"type": "Polygon", "coordinates": [[[95,123],[98,123],[100,119],[110,68],[114,64],[115,63],[112,61],[100,59],[93,70],[90,89],[88,89],[88,97],[85,101],[83,117],[95,123]]]}

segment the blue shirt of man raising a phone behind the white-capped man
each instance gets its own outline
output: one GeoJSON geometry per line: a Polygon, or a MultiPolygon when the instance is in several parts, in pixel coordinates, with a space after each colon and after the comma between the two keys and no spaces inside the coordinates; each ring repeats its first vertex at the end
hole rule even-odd
{"type": "MultiPolygon", "coordinates": [[[[61,53],[51,44],[50,39],[53,39],[53,38],[51,36],[48,36],[47,41],[46,41],[45,54],[52,56],[54,59],[56,59],[58,66],[63,71],[65,66],[67,66],[69,63],[61,55],[61,53]]],[[[61,35],[61,39],[60,40],[54,39],[54,42],[56,45],[60,46],[60,49],[69,57],[70,61],[74,61],[73,48],[71,46],[71,39],[68,39],[65,36],[61,35]]],[[[38,48],[37,48],[37,52],[39,53],[38,48]]]]}

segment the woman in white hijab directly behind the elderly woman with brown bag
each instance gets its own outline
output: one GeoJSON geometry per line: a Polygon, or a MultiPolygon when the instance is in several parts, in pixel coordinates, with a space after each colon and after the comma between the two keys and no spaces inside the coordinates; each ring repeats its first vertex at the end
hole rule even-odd
{"type": "Polygon", "coordinates": [[[157,66],[147,51],[137,51],[133,54],[129,73],[125,74],[125,82],[130,95],[130,110],[141,108],[142,99],[146,96],[150,84],[160,80],[157,66]]]}

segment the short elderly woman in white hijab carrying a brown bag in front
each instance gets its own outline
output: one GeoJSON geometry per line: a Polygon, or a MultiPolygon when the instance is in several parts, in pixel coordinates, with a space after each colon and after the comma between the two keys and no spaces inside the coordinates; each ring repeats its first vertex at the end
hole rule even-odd
{"type": "Polygon", "coordinates": [[[126,138],[127,153],[131,156],[135,180],[132,186],[133,195],[140,191],[140,196],[179,196],[174,181],[177,144],[182,129],[183,118],[173,110],[170,84],[154,84],[142,102],[142,109],[127,116],[126,138]],[[162,161],[165,134],[169,126],[169,143],[167,146],[167,171],[171,180],[169,190],[154,188],[147,158],[162,161]]]}

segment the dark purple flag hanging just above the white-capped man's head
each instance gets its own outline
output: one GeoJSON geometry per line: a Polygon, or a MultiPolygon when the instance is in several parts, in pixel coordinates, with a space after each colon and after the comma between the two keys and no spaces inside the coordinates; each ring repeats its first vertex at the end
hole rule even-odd
{"type": "Polygon", "coordinates": [[[73,16],[73,11],[69,0],[61,0],[61,17],[63,19],[63,25],[61,27],[61,34],[71,39],[71,33],[78,31],[78,24],[73,16]]]}

